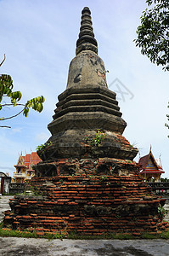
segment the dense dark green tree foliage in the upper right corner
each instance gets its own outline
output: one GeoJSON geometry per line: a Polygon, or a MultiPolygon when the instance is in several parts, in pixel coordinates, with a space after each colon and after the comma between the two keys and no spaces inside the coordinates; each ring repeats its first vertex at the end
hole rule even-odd
{"type": "Polygon", "coordinates": [[[152,9],[145,9],[138,26],[136,46],[149,60],[169,71],[169,0],[146,0],[152,9]]]}

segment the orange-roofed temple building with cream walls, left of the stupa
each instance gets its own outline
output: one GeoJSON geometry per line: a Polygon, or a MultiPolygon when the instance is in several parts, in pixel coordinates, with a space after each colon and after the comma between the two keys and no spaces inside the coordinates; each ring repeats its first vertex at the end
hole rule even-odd
{"type": "Polygon", "coordinates": [[[14,178],[12,179],[12,183],[25,183],[25,180],[30,180],[31,177],[35,176],[35,171],[32,169],[32,166],[37,165],[42,161],[40,157],[37,155],[37,152],[31,152],[31,154],[20,154],[16,168],[16,172],[14,172],[14,178]]]}

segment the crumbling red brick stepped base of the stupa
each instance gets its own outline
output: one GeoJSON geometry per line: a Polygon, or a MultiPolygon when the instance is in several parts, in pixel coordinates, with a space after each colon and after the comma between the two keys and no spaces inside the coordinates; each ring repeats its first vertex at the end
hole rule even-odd
{"type": "MultiPolygon", "coordinates": [[[[4,227],[79,235],[123,233],[139,236],[167,230],[158,207],[165,200],[152,194],[130,160],[58,160],[55,177],[34,177],[34,195],[17,195],[5,212],[4,227]],[[72,169],[72,165],[74,168],[72,169]],[[64,169],[64,166],[67,166],[64,169]],[[71,172],[69,174],[69,166],[71,172]],[[67,170],[65,175],[63,170],[67,170]]],[[[51,164],[52,165],[52,164],[51,164]]]]}

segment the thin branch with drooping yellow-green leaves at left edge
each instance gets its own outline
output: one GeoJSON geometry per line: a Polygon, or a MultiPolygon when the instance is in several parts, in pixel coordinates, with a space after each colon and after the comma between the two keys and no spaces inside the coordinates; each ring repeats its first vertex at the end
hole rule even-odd
{"type": "MultiPolygon", "coordinates": [[[[3,61],[0,63],[0,67],[3,65],[5,61],[5,55],[3,61]]],[[[37,112],[42,112],[43,105],[42,103],[45,101],[43,96],[38,96],[32,98],[31,100],[27,101],[25,104],[20,103],[20,99],[22,94],[20,90],[14,91],[14,84],[12,78],[7,74],[0,75],[0,110],[5,107],[23,107],[18,113],[9,116],[9,117],[2,117],[0,121],[4,121],[7,119],[13,119],[14,117],[18,116],[20,113],[23,113],[25,117],[28,116],[30,108],[36,110],[37,112]],[[4,102],[4,98],[8,98],[9,102],[4,102]]],[[[11,128],[7,125],[0,125],[0,127],[11,128]]]]}

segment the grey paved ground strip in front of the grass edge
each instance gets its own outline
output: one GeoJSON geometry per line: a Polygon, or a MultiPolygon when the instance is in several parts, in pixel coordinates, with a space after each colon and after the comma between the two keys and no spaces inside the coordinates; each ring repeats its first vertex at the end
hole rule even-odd
{"type": "Polygon", "coordinates": [[[40,256],[168,256],[166,240],[53,240],[0,237],[0,254],[40,256]]]}

